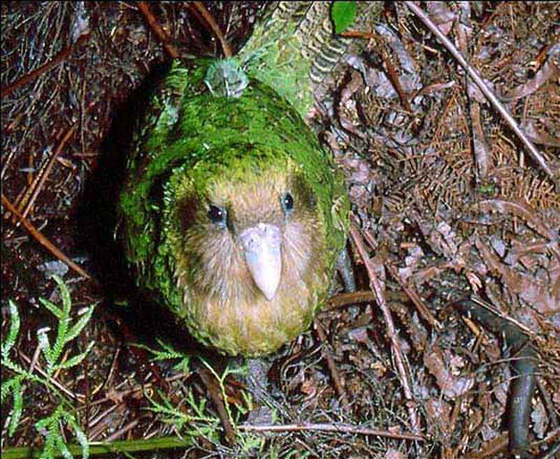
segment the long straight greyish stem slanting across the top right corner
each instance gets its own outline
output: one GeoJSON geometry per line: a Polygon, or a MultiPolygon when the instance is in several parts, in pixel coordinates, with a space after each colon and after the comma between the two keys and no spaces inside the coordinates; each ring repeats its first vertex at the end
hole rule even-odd
{"type": "Polygon", "coordinates": [[[413,1],[405,1],[404,3],[406,6],[408,6],[408,8],[410,8],[412,13],[415,13],[415,15],[417,15],[419,20],[424,22],[426,27],[428,27],[428,29],[430,29],[432,33],[439,38],[441,43],[443,43],[445,48],[447,48],[447,50],[452,54],[452,56],[455,59],[457,59],[459,65],[461,65],[461,67],[463,67],[466,70],[466,72],[473,79],[473,81],[478,86],[482,94],[484,94],[484,96],[486,96],[486,98],[491,103],[491,105],[493,105],[494,108],[496,108],[496,110],[500,112],[500,114],[502,115],[503,119],[505,119],[505,122],[508,124],[508,126],[510,126],[512,131],[514,131],[517,137],[519,137],[519,140],[521,140],[523,145],[525,145],[529,154],[533,156],[533,159],[547,173],[547,175],[550,177],[550,180],[552,180],[552,182],[554,183],[554,187],[556,187],[556,190],[560,191],[560,184],[558,180],[556,180],[556,177],[554,177],[554,173],[552,173],[552,170],[550,170],[550,168],[548,167],[543,156],[541,156],[541,154],[535,148],[533,143],[531,143],[531,140],[529,140],[529,138],[519,127],[519,124],[515,122],[515,119],[513,119],[513,117],[510,115],[510,112],[508,112],[508,110],[503,106],[503,103],[501,103],[501,101],[498,100],[496,95],[493,92],[491,92],[489,87],[487,87],[486,83],[484,83],[482,78],[480,78],[480,75],[478,75],[478,72],[475,70],[475,68],[473,68],[471,64],[468,64],[466,59],[457,50],[457,48],[455,48],[455,46],[453,45],[453,43],[451,43],[449,38],[447,38],[445,34],[443,34],[443,32],[439,29],[439,27],[432,22],[432,20],[426,15],[426,13],[424,13],[424,11],[422,11],[417,5],[415,5],[413,1]]]}

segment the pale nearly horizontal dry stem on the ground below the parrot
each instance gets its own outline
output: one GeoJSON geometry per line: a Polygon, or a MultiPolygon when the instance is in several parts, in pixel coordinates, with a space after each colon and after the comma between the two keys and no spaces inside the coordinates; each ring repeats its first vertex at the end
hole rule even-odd
{"type": "Polygon", "coordinates": [[[371,429],[367,427],[359,427],[358,425],[332,423],[332,424],[285,424],[285,425],[240,425],[239,430],[245,432],[297,432],[301,430],[309,430],[315,432],[344,432],[359,435],[377,435],[378,437],[399,438],[405,440],[424,441],[422,435],[414,435],[410,433],[393,433],[387,430],[371,429]]]}

